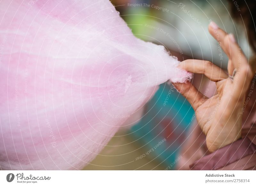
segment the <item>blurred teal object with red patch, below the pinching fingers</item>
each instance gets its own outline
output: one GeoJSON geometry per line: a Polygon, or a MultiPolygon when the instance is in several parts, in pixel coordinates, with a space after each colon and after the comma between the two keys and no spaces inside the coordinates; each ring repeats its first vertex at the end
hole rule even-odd
{"type": "Polygon", "coordinates": [[[175,160],[179,159],[178,153],[194,119],[194,110],[173,86],[162,84],[147,103],[144,114],[131,128],[134,140],[148,149],[145,156],[158,160],[163,167],[175,169],[175,160]]]}

